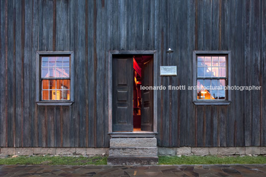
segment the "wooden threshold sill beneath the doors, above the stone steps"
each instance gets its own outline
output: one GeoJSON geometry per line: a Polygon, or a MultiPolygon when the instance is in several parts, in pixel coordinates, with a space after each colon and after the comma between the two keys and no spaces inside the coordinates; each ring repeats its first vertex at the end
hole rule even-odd
{"type": "Polygon", "coordinates": [[[154,138],[158,133],[153,131],[118,131],[108,134],[111,138],[154,138]]]}

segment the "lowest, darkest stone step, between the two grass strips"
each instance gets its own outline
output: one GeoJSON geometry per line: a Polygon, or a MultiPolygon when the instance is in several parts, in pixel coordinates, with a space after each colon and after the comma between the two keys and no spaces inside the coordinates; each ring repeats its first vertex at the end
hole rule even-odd
{"type": "Polygon", "coordinates": [[[109,156],[107,165],[156,165],[158,156],[109,156]]]}

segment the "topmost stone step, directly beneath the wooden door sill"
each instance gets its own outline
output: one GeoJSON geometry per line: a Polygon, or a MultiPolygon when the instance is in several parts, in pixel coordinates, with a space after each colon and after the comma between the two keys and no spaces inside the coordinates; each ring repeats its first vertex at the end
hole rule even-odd
{"type": "Polygon", "coordinates": [[[111,138],[110,147],[156,147],[156,138],[111,138]]]}

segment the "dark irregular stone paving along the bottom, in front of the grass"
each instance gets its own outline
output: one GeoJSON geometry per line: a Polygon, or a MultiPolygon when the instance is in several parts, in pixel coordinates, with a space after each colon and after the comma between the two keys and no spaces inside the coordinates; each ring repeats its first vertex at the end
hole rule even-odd
{"type": "Polygon", "coordinates": [[[0,165],[0,177],[266,177],[260,165],[44,166],[0,165]]]}

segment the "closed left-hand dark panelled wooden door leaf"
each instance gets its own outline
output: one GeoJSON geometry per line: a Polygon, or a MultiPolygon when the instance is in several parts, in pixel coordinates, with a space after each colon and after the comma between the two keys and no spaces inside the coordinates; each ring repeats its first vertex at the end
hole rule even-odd
{"type": "Polygon", "coordinates": [[[113,57],[113,131],[133,131],[133,57],[113,57]]]}

